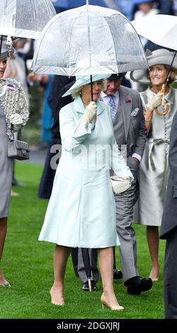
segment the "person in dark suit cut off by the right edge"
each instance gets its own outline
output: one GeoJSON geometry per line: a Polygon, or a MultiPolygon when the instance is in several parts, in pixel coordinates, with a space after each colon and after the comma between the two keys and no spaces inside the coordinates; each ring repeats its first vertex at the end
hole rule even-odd
{"type": "Polygon", "coordinates": [[[161,222],[161,239],[166,239],[164,303],[166,319],[177,319],[177,113],[173,117],[169,148],[170,175],[161,222]]]}

